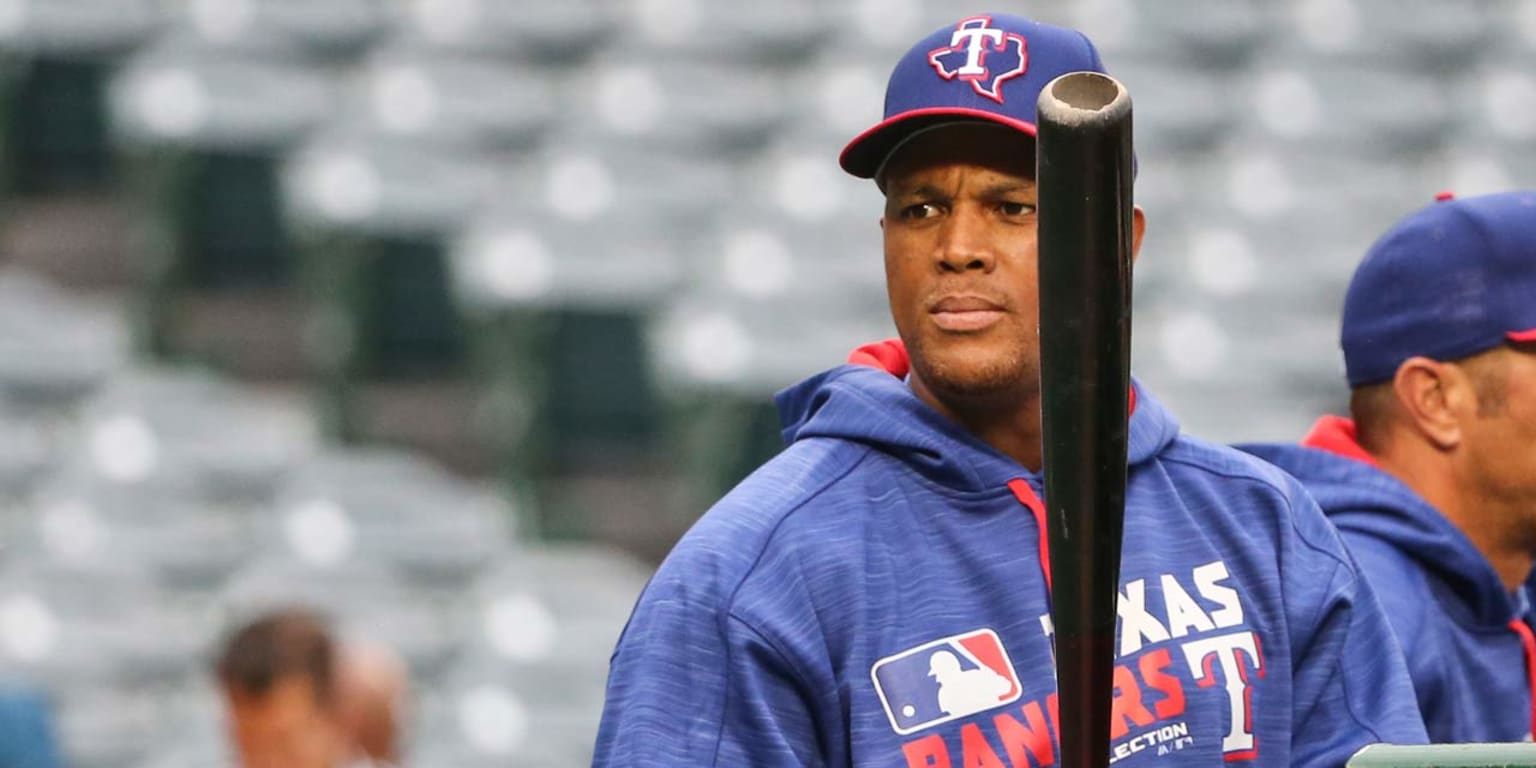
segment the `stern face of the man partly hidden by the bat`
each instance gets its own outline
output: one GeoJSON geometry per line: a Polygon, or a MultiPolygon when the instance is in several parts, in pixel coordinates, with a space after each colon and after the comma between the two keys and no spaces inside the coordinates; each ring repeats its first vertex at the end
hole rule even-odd
{"type": "Polygon", "coordinates": [[[919,135],[882,174],[891,315],[914,387],[946,406],[1038,393],[1034,143],[994,124],[919,135]]]}

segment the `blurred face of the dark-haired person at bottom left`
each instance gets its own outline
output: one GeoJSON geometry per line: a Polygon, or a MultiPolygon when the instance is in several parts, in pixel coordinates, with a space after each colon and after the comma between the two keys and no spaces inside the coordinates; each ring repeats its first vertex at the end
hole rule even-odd
{"type": "Polygon", "coordinates": [[[335,768],[346,757],[336,714],[304,677],[264,694],[226,691],[241,768],[335,768]]]}

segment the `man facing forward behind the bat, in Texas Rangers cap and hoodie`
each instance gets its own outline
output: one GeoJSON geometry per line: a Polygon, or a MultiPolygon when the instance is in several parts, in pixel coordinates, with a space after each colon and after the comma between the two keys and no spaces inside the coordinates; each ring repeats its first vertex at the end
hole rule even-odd
{"type": "MultiPolygon", "coordinates": [[[[1084,69],[1103,69],[1086,37],[1011,15],[897,63],[842,166],[885,192],[902,339],[779,395],[785,452],[634,608],[596,765],[1060,763],[1032,137],[1041,88],[1084,69]]],[[[1390,627],[1312,498],[1132,395],[1106,751],[1338,766],[1422,740],[1390,627]]]]}

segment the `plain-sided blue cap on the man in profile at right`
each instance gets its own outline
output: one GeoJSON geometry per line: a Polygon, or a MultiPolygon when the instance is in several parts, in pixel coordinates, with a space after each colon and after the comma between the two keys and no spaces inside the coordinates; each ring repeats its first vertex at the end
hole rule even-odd
{"type": "Polygon", "coordinates": [[[1387,230],[1355,269],[1339,341],[1352,387],[1413,356],[1536,341],[1536,190],[1441,195],[1387,230]]]}

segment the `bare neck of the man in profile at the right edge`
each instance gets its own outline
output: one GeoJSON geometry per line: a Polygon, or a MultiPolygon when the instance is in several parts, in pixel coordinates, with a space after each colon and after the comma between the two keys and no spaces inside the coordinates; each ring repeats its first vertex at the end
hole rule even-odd
{"type": "Polygon", "coordinates": [[[1450,459],[1439,453],[1387,452],[1375,458],[1384,472],[1402,481],[1467,535],[1507,591],[1525,584],[1536,559],[1530,536],[1521,530],[1525,519],[1521,510],[1467,487],[1450,459]]]}

